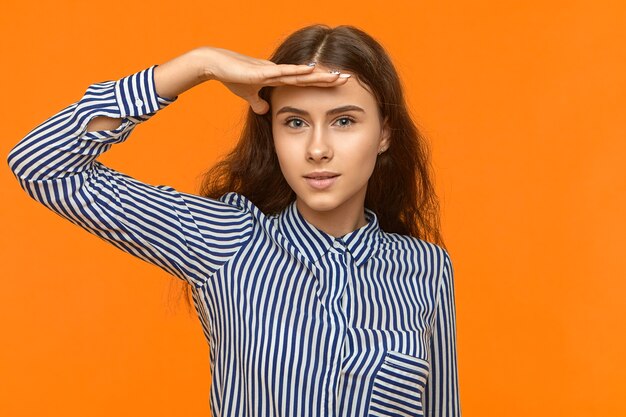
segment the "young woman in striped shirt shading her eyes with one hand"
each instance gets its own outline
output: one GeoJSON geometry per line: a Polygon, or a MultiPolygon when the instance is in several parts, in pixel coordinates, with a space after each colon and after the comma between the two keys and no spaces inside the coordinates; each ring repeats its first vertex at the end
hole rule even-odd
{"type": "Polygon", "coordinates": [[[359,29],[303,28],[269,61],[201,47],[92,84],[8,162],[35,200],[188,284],[214,416],[461,415],[427,146],[359,29]],[[209,80],[250,110],[201,196],[97,160],[209,80]]]}

